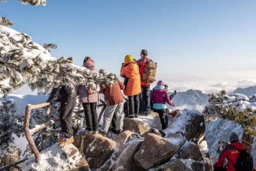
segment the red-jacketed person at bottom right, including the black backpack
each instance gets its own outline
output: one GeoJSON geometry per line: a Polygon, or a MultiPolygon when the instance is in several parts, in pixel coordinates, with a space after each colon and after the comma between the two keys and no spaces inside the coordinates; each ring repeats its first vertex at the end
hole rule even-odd
{"type": "Polygon", "coordinates": [[[214,171],[224,171],[224,159],[227,158],[227,170],[226,171],[252,171],[253,159],[246,152],[246,146],[239,142],[238,135],[233,132],[228,144],[222,153],[219,155],[218,161],[213,165],[214,171]]]}

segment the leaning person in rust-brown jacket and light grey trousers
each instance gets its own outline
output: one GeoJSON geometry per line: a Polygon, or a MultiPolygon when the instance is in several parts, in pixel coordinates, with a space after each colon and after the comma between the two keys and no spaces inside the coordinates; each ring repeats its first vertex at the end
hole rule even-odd
{"type": "Polygon", "coordinates": [[[121,90],[124,89],[124,84],[119,80],[115,85],[100,85],[100,92],[104,94],[106,109],[103,114],[103,125],[99,131],[103,136],[107,136],[112,118],[116,117],[116,130],[120,134],[123,130],[123,94],[121,90]]]}

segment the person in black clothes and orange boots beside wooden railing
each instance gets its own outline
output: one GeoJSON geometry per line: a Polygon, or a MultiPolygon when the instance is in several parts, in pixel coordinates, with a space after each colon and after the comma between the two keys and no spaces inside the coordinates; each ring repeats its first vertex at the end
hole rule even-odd
{"type": "Polygon", "coordinates": [[[64,134],[64,136],[60,138],[61,142],[59,147],[64,147],[72,144],[74,141],[72,129],[72,113],[76,104],[77,96],[75,85],[62,85],[58,88],[53,88],[46,102],[53,103],[53,100],[56,98],[56,96],[58,101],[60,101],[60,124],[61,130],[64,134]]]}

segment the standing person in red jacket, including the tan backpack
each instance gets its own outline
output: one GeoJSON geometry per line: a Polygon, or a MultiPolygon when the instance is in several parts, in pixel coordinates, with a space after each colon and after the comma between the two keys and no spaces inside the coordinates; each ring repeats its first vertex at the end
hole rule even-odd
{"type": "Polygon", "coordinates": [[[152,60],[148,58],[148,52],[145,49],[141,51],[140,57],[141,59],[137,61],[141,77],[139,113],[147,116],[152,113],[152,110],[150,109],[150,85],[155,81],[156,63],[152,62],[152,60]],[[149,68],[148,66],[153,67],[149,68]]]}

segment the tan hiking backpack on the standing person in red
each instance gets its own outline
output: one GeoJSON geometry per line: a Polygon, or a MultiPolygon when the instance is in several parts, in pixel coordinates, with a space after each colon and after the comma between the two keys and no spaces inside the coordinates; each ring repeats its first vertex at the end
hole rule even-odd
{"type": "Polygon", "coordinates": [[[146,83],[153,83],[156,78],[156,68],[157,63],[152,60],[147,60],[145,64],[145,69],[142,73],[142,80],[146,83]]]}

